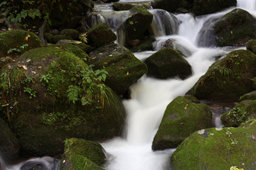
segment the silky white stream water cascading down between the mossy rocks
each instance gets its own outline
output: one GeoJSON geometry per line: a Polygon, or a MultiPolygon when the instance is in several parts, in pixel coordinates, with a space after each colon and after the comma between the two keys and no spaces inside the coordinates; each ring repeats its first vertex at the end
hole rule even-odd
{"type": "MultiPolygon", "coordinates": [[[[143,3],[146,2],[143,1],[143,3]]],[[[129,17],[129,12],[114,12],[109,6],[105,6],[105,8],[98,8],[98,10],[104,9],[104,12],[97,12],[97,14],[92,15],[92,25],[106,22],[115,32],[125,18],[129,17]]],[[[255,0],[238,0],[237,7],[243,8],[256,16],[255,0]]],[[[185,80],[179,78],[159,80],[144,75],[130,87],[131,99],[123,101],[127,113],[127,126],[123,132],[123,137],[101,143],[111,155],[104,168],[109,170],[165,170],[171,168],[169,158],[175,148],[152,151],[152,140],[167,105],[175,97],[185,95],[200,76],[206,73],[209,66],[216,61],[216,58],[238,49],[232,47],[216,48],[212,37],[214,23],[233,9],[234,7],[231,7],[215,14],[196,18],[191,14],[172,15],[164,10],[149,10],[154,14],[150,31],[156,37],[154,50],[134,53],[134,55],[144,61],[159,50],[166,40],[171,39],[175,49],[183,52],[186,56],[185,59],[192,66],[192,75],[185,80]]],[[[122,33],[117,33],[117,35],[118,43],[122,44],[122,33]]],[[[222,125],[216,121],[216,126],[222,125]]],[[[39,160],[48,163],[48,168],[53,169],[52,159],[47,157],[39,160]]],[[[38,162],[39,160],[33,161],[38,162]]],[[[26,163],[17,164],[16,167],[5,167],[5,169],[18,170],[24,164],[26,163]]],[[[1,166],[4,165],[1,164],[1,166]]]]}

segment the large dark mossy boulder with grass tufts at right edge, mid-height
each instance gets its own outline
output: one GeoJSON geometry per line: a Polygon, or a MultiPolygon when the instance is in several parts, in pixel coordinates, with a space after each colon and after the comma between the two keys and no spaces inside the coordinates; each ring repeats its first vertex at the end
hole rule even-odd
{"type": "Polygon", "coordinates": [[[197,99],[238,100],[254,90],[256,56],[249,50],[234,50],[218,60],[201,76],[188,94],[197,99]]]}

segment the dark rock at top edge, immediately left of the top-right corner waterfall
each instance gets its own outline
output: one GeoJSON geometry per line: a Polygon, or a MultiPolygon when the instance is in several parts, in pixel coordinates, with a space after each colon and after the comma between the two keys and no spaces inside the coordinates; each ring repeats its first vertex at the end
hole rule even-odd
{"type": "Polygon", "coordinates": [[[237,0],[195,0],[193,2],[193,13],[196,15],[212,14],[231,6],[237,6],[237,0]]]}

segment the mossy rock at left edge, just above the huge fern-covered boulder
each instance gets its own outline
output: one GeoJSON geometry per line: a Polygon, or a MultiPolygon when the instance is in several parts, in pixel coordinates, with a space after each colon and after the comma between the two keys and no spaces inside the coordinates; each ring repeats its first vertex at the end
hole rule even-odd
{"type": "Polygon", "coordinates": [[[16,54],[20,54],[18,50],[24,52],[26,50],[39,48],[41,46],[42,44],[39,37],[32,32],[12,29],[10,31],[6,31],[0,34],[0,58],[6,56],[15,57],[16,54]],[[30,35],[30,37],[28,37],[28,39],[26,40],[26,37],[28,35],[30,35]],[[25,44],[28,44],[28,46],[20,48],[20,46],[23,46],[25,44]],[[7,52],[10,49],[13,49],[13,52],[8,54],[7,52]]]}

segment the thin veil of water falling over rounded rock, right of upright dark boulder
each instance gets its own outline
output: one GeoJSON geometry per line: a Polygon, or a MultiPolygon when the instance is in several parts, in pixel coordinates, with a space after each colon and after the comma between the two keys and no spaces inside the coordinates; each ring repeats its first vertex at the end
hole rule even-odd
{"type": "Polygon", "coordinates": [[[174,35],[177,33],[179,21],[170,12],[155,9],[149,10],[154,18],[151,23],[150,32],[155,37],[174,35]]]}

